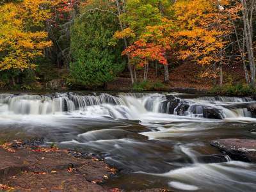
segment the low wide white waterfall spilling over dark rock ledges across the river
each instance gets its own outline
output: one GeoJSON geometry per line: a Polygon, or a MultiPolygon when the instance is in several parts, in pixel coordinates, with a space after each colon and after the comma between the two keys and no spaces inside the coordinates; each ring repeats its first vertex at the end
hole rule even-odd
{"type": "Polygon", "coordinates": [[[48,95],[0,94],[0,112],[20,115],[81,115],[138,119],[146,113],[166,113],[192,118],[255,117],[256,101],[250,97],[198,97],[182,99],[161,93],[53,93],[48,95]]]}

